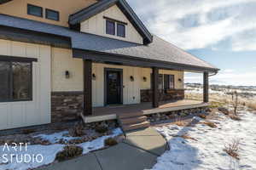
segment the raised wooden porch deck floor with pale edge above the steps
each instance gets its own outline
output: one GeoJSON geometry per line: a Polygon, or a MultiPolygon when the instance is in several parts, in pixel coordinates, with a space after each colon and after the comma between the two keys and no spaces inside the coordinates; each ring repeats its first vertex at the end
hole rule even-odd
{"type": "Polygon", "coordinates": [[[183,99],[177,101],[160,102],[158,108],[152,108],[152,103],[141,103],[135,105],[111,105],[106,107],[93,108],[92,116],[83,116],[84,122],[100,122],[113,120],[119,114],[129,114],[133,112],[143,112],[143,115],[161,113],[167,111],[179,111],[183,109],[193,109],[197,107],[205,107],[208,103],[202,101],[183,99]]]}

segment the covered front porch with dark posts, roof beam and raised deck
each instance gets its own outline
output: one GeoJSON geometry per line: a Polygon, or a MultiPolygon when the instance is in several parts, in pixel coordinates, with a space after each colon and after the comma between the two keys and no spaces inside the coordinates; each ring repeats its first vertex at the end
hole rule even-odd
{"type": "MultiPolygon", "coordinates": [[[[86,123],[113,120],[116,119],[119,114],[142,113],[143,115],[149,115],[154,113],[164,113],[168,111],[181,111],[201,108],[209,105],[208,77],[209,74],[216,71],[207,67],[183,64],[177,65],[174,63],[166,63],[159,60],[125,58],[122,56],[108,54],[90,54],[90,52],[82,50],[73,50],[73,56],[76,58],[84,59],[84,111],[82,117],[84,119],[84,122],[86,123]],[[93,107],[93,63],[105,63],[108,65],[128,65],[150,69],[152,73],[150,102],[141,101],[140,103],[132,105],[106,105],[105,103],[103,107],[93,107]],[[160,70],[200,72],[202,74],[204,83],[203,99],[201,101],[189,99],[161,101],[161,94],[159,89],[160,70]]],[[[120,88],[122,87],[123,85],[121,84],[120,88]]],[[[170,92],[168,92],[167,90],[166,93],[172,94],[171,91],[172,89],[170,90],[170,92]]],[[[105,96],[105,92],[102,95],[105,96]]]]}

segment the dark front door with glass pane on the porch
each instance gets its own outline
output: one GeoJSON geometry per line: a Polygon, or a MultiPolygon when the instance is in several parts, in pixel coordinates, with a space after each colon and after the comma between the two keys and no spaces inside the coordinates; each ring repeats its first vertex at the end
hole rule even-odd
{"type": "Polygon", "coordinates": [[[106,72],[107,105],[122,103],[121,71],[106,72]]]}

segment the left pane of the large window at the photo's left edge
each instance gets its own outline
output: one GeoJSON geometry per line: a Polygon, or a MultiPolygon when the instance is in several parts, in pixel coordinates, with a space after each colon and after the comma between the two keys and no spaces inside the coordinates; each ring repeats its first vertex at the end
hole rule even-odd
{"type": "Polygon", "coordinates": [[[0,101],[9,100],[9,79],[10,79],[10,63],[0,61],[0,101]]]}

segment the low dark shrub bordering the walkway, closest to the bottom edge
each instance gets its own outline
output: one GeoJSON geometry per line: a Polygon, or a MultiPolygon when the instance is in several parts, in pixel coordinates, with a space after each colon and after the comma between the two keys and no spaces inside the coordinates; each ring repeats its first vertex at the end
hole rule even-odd
{"type": "Polygon", "coordinates": [[[57,161],[66,161],[73,157],[81,156],[83,149],[76,145],[67,145],[64,147],[64,150],[57,153],[55,160],[57,161]]]}

